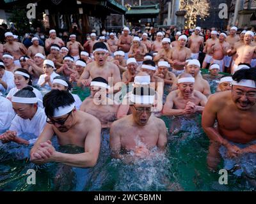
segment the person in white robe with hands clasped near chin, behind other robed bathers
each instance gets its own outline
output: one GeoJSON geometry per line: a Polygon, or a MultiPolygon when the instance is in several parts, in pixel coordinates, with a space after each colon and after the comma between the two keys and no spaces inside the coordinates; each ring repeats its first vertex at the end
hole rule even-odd
{"type": "Polygon", "coordinates": [[[37,84],[40,87],[44,87],[45,89],[51,89],[52,81],[54,77],[60,76],[54,72],[55,66],[54,62],[49,59],[45,59],[44,61],[44,74],[40,75],[37,84]]]}

